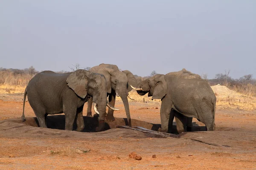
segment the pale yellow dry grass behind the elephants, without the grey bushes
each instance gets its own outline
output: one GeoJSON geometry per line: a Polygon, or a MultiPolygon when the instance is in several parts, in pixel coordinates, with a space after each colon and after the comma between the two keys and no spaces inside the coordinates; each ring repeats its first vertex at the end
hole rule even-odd
{"type": "MultiPolygon", "coordinates": [[[[15,94],[24,93],[26,85],[32,78],[29,74],[15,74],[10,71],[0,71],[0,94],[15,94]]],[[[244,110],[256,110],[256,87],[248,84],[241,88],[230,90],[226,86],[214,85],[211,86],[217,98],[216,106],[219,108],[235,108],[244,110]],[[236,92],[237,91],[237,92],[236,92]],[[239,93],[238,93],[239,92],[239,93]]],[[[140,96],[135,90],[129,92],[130,96],[135,100],[129,102],[145,102],[145,103],[160,103],[160,99],[151,100],[151,97],[140,96]]],[[[121,100],[116,97],[116,100],[121,100]]]]}

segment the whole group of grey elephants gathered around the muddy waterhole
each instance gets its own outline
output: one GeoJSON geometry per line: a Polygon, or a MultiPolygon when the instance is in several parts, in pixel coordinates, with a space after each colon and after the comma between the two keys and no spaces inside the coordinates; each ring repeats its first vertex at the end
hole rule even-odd
{"type": "MultiPolygon", "coordinates": [[[[175,117],[177,131],[192,130],[192,118],[203,122],[207,130],[215,129],[216,97],[209,84],[198,74],[186,69],[166,75],[156,74],[138,83],[128,71],[120,71],[116,65],[100,64],[89,71],[76,70],[57,74],[43,71],[33,77],[24,92],[22,120],[25,121],[24,107],[28,96],[40,127],[47,127],[48,114],[65,114],[65,130],[84,129],[83,107],[87,102],[87,116],[92,116],[92,107],[99,114],[99,126],[96,131],[105,128],[105,119],[113,121],[116,96],[120,96],[125,106],[128,125],[131,127],[131,115],[128,98],[129,91],[136,90],[139,95],[148,94],[153,99],[161,99],[161,131],[172,133],[175,117]],[[106,114],[106,107],[108,113],[106,114]]],[[[133,100],[133,99],[132,99],[133,100]]]]}

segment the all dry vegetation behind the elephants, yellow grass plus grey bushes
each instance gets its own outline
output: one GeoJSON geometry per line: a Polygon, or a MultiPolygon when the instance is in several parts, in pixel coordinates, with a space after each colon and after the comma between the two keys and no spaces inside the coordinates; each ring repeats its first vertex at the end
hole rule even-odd
{"type": "MultiPolygon", "coordinates": [[[[75,70],[77,68],[75,67],[75,70]]],[[[66,73],[67,71],[59,71],[58,73],[66,73]]],[[[38,71],[32,66],[23,70],[0,68],[0,94],[6,93],[23,93],[29,80],[37,74],[38,71]]],[[[151,76],[157,74],[156,71],[151,76]]],[[[138,82],[148,77],[139,77],[135,75],[138,82]]],[[[232,79],[228,74],[216,74],[215,79],[205,80],[211,85],[217,98],[217,107],[235,108],[244,110],[256,110],[256,80],[252,79],[252,75],[245,75],[239,79],[232,79]],[[217,85],[220,84],[220,85],[217,85]],[[227,85],[224,86],[223,84],[227,85]]],[[[130,96],[135,100],[130,102],[155,103],[160,99],[151,100],[151,97],[140,96],[136,91],[129,92],[130,96]]],[[[116,97],[121,100],[120,97],[116,97]]]]}

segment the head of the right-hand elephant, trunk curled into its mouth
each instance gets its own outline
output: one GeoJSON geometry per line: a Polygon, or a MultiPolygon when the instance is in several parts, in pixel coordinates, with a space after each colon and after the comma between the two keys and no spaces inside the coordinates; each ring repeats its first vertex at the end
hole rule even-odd
{"type": "Polygon", "coordinates": [[[137,88],[131,85],[141,96],[148,93],[153,99],[162,99],[167,94],[167,83],[163,74],[156,74],[153,77],[140,82],[137,88]]]}

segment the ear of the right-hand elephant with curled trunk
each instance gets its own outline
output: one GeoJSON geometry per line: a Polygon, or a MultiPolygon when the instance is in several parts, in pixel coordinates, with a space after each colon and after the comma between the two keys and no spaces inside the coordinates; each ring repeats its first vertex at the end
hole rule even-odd
{"type": "Polygon", "coordinates": [[[167,83],[164,79],[164,75],[157,74],[154,81],[156,82],[156,85],[154,87],[152,99],[162,99],[167,94],[167,83]]]}

